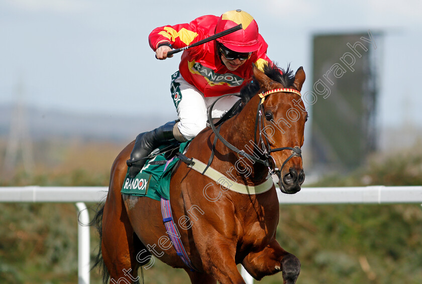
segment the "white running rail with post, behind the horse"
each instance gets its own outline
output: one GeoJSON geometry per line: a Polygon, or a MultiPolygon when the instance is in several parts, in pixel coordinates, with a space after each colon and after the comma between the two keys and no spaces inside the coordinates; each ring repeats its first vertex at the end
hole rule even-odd
{"type": "MultiPolygon", "coordinates": [[[[99,202],[107,187],[0,187],[0,202],[75,203],[78,209],[78,284],[89,284],[89,223],[84,202],[99,202]]],[[[302,188],[296,194],[277,190],[280,204],[404,204],[422,203],[422,186],[367,186],[302,188]]],[[[253,278],[242,267],[247,284],[253,278]]]]}

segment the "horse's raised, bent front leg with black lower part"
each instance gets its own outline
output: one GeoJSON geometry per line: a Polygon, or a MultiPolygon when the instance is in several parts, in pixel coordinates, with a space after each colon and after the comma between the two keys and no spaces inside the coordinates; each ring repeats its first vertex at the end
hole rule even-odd
{"type": "Polygon", "coordinates": [[[283,283],[294,284],[300,272],[300,261],[285,251],[273,239],[263,250],[250,252],[242,262],[245,269],[257,280],[283,271],[283,283]]]}

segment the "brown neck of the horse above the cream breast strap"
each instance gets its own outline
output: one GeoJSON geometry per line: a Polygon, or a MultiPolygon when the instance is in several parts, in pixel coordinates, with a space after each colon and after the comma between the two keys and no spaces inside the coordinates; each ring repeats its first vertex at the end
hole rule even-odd
{"type": "MultiPolygon", "coordinates": [[[[251,150],[257,151],[257,146],[254,147],[254,137],[258,101],[259,97],[254,96],[245,105],[242,111],[232,119],[226,121],[220,130],[222,136],[225,137],[230,144],[251,155],[251,150]]],[[[226,153],[228,148],[223,144],[217,144],[216,150],[220,153],[226,153]]],[[[234,168],[234,170],[232,169],[230,172],[232,176],[248,185],[256,185],[265,181],[268,174],[268,168],[260,163],[254,163],[241,155],[238,157],[238,155],[235,154],[235,157],[236,159],[221,161],[224,164],[224,168],[234,168]],[[238,163],[236,164],[236,162],[238,163]],[[245,165],[247,165],[246,169],[244,168],[245,165]]]]}

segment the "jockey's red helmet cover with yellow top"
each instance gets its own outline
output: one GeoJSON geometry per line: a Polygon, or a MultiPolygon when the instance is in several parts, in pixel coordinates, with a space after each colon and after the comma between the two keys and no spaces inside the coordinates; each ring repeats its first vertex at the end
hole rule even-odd
{"type": "Polygon", "coordinates": [[[217,22],[216,34],[242,24],[242,29],[217,41],[236,52],[253,52],[258,50],[258,25],[254,18],[242,10],[229,11],[221,15],[217,22]]]}

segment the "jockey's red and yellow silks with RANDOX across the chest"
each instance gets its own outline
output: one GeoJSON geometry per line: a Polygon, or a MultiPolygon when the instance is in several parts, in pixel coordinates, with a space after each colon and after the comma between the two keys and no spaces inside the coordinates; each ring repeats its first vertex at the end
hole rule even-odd
{"type": "MultiPolygon", "coordinates": [[[[156,28],[149,35],[150,46],[154,51],[162,43],[170,43],[173,48],[188,46],[214,35],[219,19],[220,17],[207,15],[188,24],[156,28]]],[[[243,23],[238,24],[243,25],[243,23]]],[[[205,97],[239,93],[243,85],[247,83],[247,79],[252,76],[252,64],[261,70],[264,64],[272,64],[266,55],[268,45],[261,35],[258,35],[258,42],[258,50],[254,51],[251,57],[235,71],[230,71],[222,63],[218,56],[216,41],[185,50],[179,64],[180,74],[205,97]]]]}

